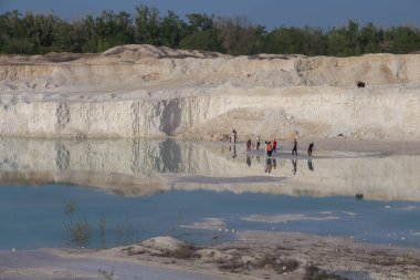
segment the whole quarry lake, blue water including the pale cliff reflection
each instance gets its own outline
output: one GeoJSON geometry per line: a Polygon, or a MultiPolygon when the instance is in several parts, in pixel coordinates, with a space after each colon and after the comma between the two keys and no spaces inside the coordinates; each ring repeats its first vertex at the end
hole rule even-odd
{"type": "Polygon", "coordinates": [[[418,248],[419,164],[282,149],[267,162],[244,145],[171,139],[0,139],[0,249],[211,243],[245,230],[418,248]]]}

